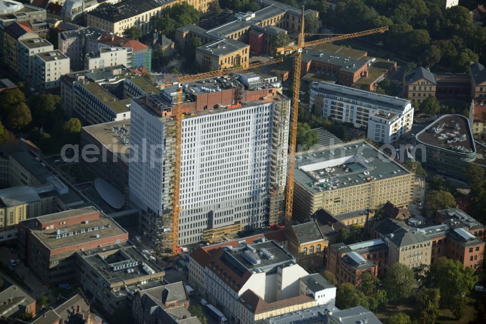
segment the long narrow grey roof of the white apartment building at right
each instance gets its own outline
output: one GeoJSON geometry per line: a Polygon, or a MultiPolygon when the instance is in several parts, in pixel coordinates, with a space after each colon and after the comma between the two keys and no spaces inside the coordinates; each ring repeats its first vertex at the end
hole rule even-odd
{"type": "Polygon", "coordinates": [[[348,100],[358,102],[357,105],[362,105],[373,109],[385,108],[399,113],[403,113],[405,108],[411,104],[410,100],[399,97],[387,96],[385,94],[355,89],[328,82],[313,82],[312,90],[319,93],[347,98],[348,100]]]}

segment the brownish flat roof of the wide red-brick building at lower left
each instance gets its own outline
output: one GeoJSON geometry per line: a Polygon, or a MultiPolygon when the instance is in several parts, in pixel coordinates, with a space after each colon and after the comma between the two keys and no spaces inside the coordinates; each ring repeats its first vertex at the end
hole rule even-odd
{"type": "Polygon", "coordinates": [[[82,216],[97,211],[94,207],[74,209],[65,212],[40,216],[22,221],[22,224],[32,231],[32,234],[50,250],[69,247],[90,241],[103,240],[104,238],[126,234],[127,232],[113,219],[100,212],[100,218],[89,220],[88,224],[74,224],[58,227],[53,230],[42,230],[38,227],[38,221],[49,222],[68,217],[82,216]],[[97,229],[95,229],[97,228],[97,229]],[[58,234],[59,230],[59,234],[58,234]],[[76,233],[77,234],[74,234],[76,233]],[[66,235],[64,235],[66,234],[66,235]],[[96,237],[98,235],[98,237],[96,237]]]}

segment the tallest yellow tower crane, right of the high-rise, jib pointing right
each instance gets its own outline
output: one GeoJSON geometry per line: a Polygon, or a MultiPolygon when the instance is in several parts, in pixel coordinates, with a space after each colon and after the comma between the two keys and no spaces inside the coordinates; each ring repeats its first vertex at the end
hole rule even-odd
{"type": "Polygon", "coordinates": [[[300,90],[300,72],[302,66],[302,50],[304,47],[314,46],[324,43],[330,43],[333,41],[346,39],[346,38],[354,38],[360,36],[366,36],[376,33],[384,33],[388,30],[388,27],[382,28],[375,28],[366,30],[363,32],[353,33],[353,34],[343,34],[339,36],[323,38],[318,40],[312,41],[305,41],[306,35],[313,35],[313,34],[304,34],[304,6],[302,6],[302,17],[301,17],[301,24],[300,24],[300,33],[297,38],[297,44],[288,46],[288,47],[279,47],[277,48],[277,54],[285,54],[285,53],[294,53],[297,52],[295,55],[294,61],[294,88],[293,88],[293,95],[292,95],[292,118],[290,121],[290,147],[289,147],[289,170],[287,173],[287,190],[286,190],[286,201],[285,201],[285,224],[288,225],[291,223],[292,219],[292,204],[294,203],[294,168],[295,168],[295,144],[297,139],[297,115],[298,115],[298,108],[299,108],[299,90],[300,90]]]}

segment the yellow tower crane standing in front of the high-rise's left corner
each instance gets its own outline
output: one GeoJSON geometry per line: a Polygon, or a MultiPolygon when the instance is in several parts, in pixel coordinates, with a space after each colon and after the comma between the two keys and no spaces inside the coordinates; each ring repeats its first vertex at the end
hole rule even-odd
{"type": "Polygon", "coordinates": [[[182,206],[179,206],[179,190],[180,190],[180,167],[181,167],[181,136],[182,136],[182,85],[186,82],[204,80],[213,76],[222,76],[229,73],[240,72],[249,69],[256,69],[264,65],[280,63],[283,61],[282,57],[271,59],[265,62],[253,63],[241,67],[222,69],[217,71],[205,72],[200,74],[185,75],[178,78],[177,82],[168,83],[161,87],[170,85],[178,85],[177,87],[177,103],[173,107],[172,116],[175,119],[175,154],[174,154],[174,202],[172,208],[172,233],[171,233],[171,255],[177,255],[177,248],[179,245],[179,211],[182,206]]]}

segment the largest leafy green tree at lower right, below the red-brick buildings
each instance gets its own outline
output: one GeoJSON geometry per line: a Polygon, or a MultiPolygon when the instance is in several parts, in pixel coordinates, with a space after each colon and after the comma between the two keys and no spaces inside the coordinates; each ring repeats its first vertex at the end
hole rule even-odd
{"type": "Polygon", "coordinates": [[[466,306],[466,296],[471,293],[478,276],[472,267],[464,267],[458,260],[438,258],[430,267],[427,287],[440,290],[440,306],[449,308],[460,318],[466,306]]]}

